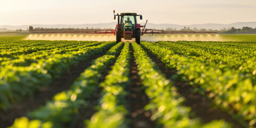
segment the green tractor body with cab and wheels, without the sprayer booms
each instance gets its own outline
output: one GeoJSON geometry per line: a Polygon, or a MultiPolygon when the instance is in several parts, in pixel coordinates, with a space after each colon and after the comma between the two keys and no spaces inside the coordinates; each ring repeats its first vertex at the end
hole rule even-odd
{"type": "Polygon", "coordinates": [[[142,15],[137,13],[121,13],[115,14],[114,10],[114,20],[117,19],[116,25],[116,42],[121,42],[121,38],[132,39],[135,38],[135,42],[140,43],[140,24],[137,22],[137,16],[140,16],[142,20],[142,15]],[[121,20],[120,20],[121,17],[121,20]]]}

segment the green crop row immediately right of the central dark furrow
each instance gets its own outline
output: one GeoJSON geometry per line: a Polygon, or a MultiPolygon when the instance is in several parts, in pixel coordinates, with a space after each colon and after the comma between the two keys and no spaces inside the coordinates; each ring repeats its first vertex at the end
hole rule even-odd
{"type": "Polygon", "coordinates": [[[190,109],[182,106],[184,99],[177,93],[177,89],[165,78],[140,45],[133,42],[132,46],[138,64],[138,74],[150,99],[145,109],[153,112],[151,120],[156,120],[158,125],[163,127],[230,127],[224,121],[212,121],[202,125],[197,120],[190,119],[190,109]]]}

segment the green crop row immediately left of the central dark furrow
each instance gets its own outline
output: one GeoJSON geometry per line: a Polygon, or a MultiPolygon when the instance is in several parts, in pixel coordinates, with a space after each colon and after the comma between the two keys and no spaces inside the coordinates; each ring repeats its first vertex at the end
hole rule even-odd
{"type": "Polygon", "coordinates": [[[100,109],[91,120],[85,122],[86,127],[127,127],[125,89],[130,84],[129,45],[129,42],[125,43],[115,65],[111,67],[105,81],[100,84],[103,87],[100,109]]]}

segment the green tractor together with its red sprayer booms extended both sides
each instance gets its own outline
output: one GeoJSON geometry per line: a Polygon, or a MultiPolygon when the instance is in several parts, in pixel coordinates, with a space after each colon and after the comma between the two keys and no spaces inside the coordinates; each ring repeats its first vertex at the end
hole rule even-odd
{"type": "MultiPolygon", "coordinates": [[[[114,19],[117,17],[117,25],[115,29],[104,29],[104,30],[86,30],[86,31],[32,31],[32,34],[114,34],[116,35],[116,42],[121,42],[121,39],[133,39],[135,42],[140,43],[140,36],[143,34],[218,34],[213,31],[165,31],[156,29],[147,29],[146,21],[144,26],[141,26],[137,21],[139,16],[142,20],[142,15],[137,13],[120,13],[115,14],[114,19]]],[[[33,28],[32,28],[33,29],[33,28]]]]}

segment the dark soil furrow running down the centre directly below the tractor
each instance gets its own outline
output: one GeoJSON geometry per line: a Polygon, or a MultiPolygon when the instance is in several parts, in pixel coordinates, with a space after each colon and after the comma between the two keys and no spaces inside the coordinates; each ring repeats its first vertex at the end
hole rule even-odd
{"type": "Polygon", "coordinates": [[[130,61],[130,78],[131,78],[131,125],[130,127],[155,127],[155,122],[150,120],[150,111],[145,111],[144,107],[148,104],[149,99],[142,87],[140,76],[138,75],[137,64],[133,55],[133,49],[130,45],[131,61],[130,61]]]}

